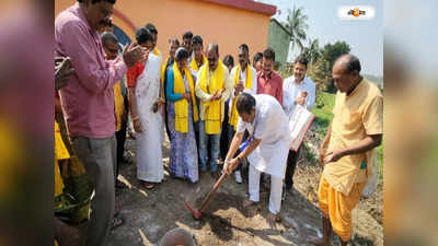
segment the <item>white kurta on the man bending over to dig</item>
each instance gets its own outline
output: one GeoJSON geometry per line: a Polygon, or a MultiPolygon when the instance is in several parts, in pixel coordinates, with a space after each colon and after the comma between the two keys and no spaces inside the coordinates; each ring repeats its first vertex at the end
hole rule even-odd
{"type": "Polygon", "coordinates": [[[239,117],[237,131],[245,129],[262,139],[258,147],[247,156],[250,165],[257,171],[284,178],[290,147],[288,118],[278,101],[267,94],[254,95],[255,117],[253,122],[244,122],[239,117]]]}

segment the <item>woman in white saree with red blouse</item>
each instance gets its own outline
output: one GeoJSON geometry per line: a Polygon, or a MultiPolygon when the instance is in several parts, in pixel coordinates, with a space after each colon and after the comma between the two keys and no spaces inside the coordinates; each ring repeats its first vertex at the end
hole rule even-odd
{"type": "Polygon", "coordinates": [[[145,188],[151,189],[161,183],[164,175],[161,151],[161,60],[152,51],[153,38],[147,28],[138,30],[136,39],[138,45],[150,52],[145,62],[138,62],[128,70],[128,101],[134,129],[137,132],[137,177],[145,188]]]}

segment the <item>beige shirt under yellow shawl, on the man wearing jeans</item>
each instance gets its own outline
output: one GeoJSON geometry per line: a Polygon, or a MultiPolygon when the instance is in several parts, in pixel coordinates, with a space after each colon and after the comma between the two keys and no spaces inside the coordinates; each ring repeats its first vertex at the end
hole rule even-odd
{"type": "MultiPolygon", "coordinates": [[[[206,66],[208,66],[208,63],[206,66]]],[[[199,68],[199,71],[201,70],[203,67],[199,68]]],[[[231,80],[230,80],[230,72],[228,71],[228,68],[224,67],[224,66],[222,66],[222,67],[223,67],[223,80],[224,80],[223,81],[223,87],[226,90],[223,91],[222,98],[220,99],[221,101],[221,107],[220,108],[221,108],[221,120],[223,121],[224,103],[228,101],[228,98],[231,95],[232,83],[231,83],[231,80]]],[[[209,71],[208,79],[211,79],[211,75],[215,73],[215,71],[211,71],[211,70],[209,71]]],[[[198,97],[198,99],[199,99],[199,118],[200,118],[200,120],[204,120],[204,103],[208,102],[212,97],[212,95],[204,92],[200,89],[199,77],[196,80],[195,92],[196,92],[196,97],[198,97]]]]}

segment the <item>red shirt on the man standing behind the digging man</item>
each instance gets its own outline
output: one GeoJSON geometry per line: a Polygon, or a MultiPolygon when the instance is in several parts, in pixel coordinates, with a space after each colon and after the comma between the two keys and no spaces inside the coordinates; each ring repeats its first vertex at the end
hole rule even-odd
{"type": "Polygon", "coordinates": [[[283,78],[276,71],[266,77],[262,71],[257,73],[257,94],[268,94],[277,98],[283,106],[283,78]]]}

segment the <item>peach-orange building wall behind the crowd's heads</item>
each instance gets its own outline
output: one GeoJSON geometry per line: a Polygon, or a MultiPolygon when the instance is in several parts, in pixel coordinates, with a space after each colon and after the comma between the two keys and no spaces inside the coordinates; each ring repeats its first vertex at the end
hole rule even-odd
{"type": "MultiPolygon", "coordinates": [[[[55,0],[55,14],[73,4],[74,0],[55,0]]],[[[269,15],[220,5],[200,0],[118,0],[115,9],[136,27],[148,22],[158,28],[158,48],[168,54],[168,40],[182,42],[185,31],[200,35],[204,45],[218,43],[220,57],[231,54],[237,59],[238,47],[246,43],[250,56],[263,51],[267,45],[269,15]]],[[[114,16],[114,24],[134,39],[134,30],[123,17],[114,16]]]]}

